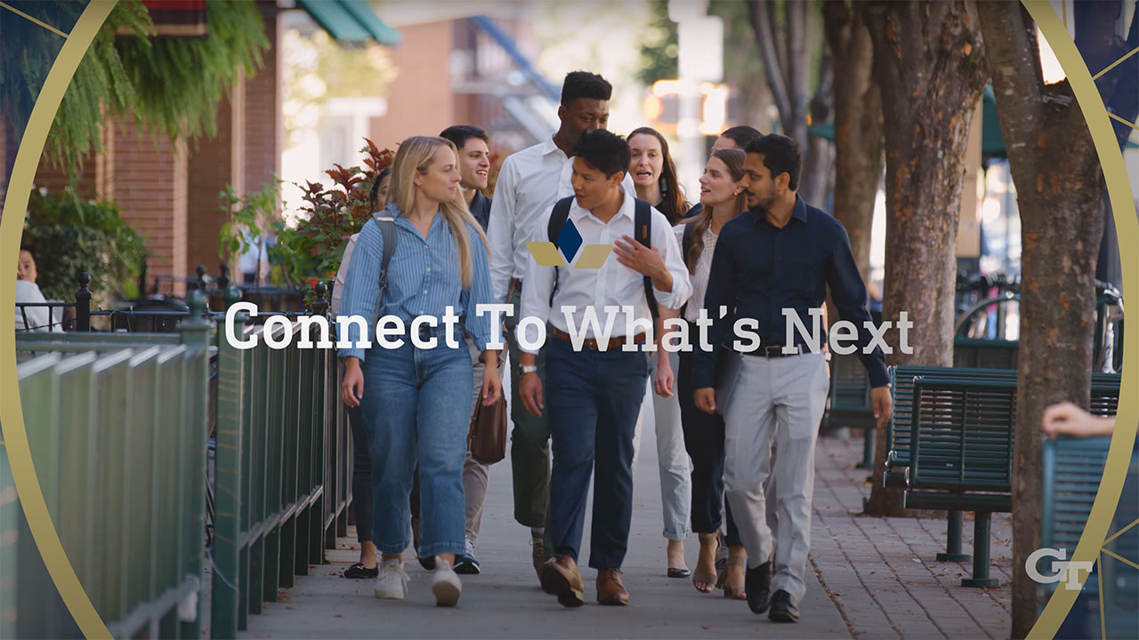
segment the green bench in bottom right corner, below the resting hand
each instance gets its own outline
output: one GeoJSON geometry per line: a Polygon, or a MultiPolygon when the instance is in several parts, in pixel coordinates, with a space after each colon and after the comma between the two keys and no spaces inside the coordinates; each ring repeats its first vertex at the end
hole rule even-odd
{"type": "MultiPolygon", "coordinates": [[[[1065,551],[1065,558],[1071,559],[1088,524],[1096,494],[1099,492],[1111,442],[1109,436],[1083,438],[1059,436],[1056,440],[1044,441],[1041,474],[1043,483],[1040,514],[1041,548],[1062,549],[1065,551]]],[[[1133,558],[1134,551],[1139,550],[1139,526],[1128,528],[1128,525],[1139,518],[1139,504],[1134,500],[1137,487],[1139,487],[1139,448],[1133,446],[1123,494],[1108,532],[1109,534],[1122,532],[1113,544],[1117,550],[1124,550],[1121,555],[1126,558],[1133,558]]],[[[1139,602],[1139,572],[1114,561],[1106,555],[1101,553],[1099,558],[1101,561],[1096,568],[1098,575],[1088,577],[1082,594],[1096,597],[1103,604],[1106,637],[1133,635],[1134,621],[1139,620],[1137,618],[1139,612],[1136,610],[1136,604],[1139,602]]],[[[1051,558],[1041,560],[1039,568],[1043,575],[1055,573],[1051,563],[1051,558]]],[[[1055,588],[1056,583],[1041,585],[1042,602],[1047,602],[1048,596],[1055,588]]]]}

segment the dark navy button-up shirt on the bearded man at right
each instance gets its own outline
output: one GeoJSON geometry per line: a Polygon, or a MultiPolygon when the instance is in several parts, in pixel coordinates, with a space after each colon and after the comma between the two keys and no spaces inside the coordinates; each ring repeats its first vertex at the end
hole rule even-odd
{"type": "MultiPolygon", "coordinates": [[[[866,307],[866,286],[851,254],[846,229],[826,212],[795,196],[795,210],[781,229],[768,221],[767,213],[753,207],[728,221],[716,240],[708,277],[704,309],[713,320],[708,331],[712,345],[731,344],[731,328],[738,318],[759,322],[761,345],[787,342],[784,309],[794,309],[808,330],[812,327],[809,311],[827,300],[827,285],[838,309],[838,317],[859,329],[858,356],[866,367],[870,385],[890,384],[886,360],[880,348],[863,353],[870,333],[863,325],[870,320],[866,307]],[[728,315],[720,318],[720,306],[728,315]],[[732,313],[735,310],[735,313],[732,313]]],[[[821,328],[820,328],[821,331],[821,328]]],[[[805,344],[797,329],[795,344],[805,344]]],[[[695,351],[696,388],[715,383],[718,351],[695,351]]]]}

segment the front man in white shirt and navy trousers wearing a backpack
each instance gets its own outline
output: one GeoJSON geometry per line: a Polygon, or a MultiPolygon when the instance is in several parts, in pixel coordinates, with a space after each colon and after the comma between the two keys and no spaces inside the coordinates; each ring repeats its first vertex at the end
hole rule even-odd
{"type": "MultiPolygon", "coordinates": [[[[591,131],[574,151],[574,197],[563,233],[580,241],[558,243],[567,263],[560,268],[540,266],[532,253],[527,256],[522,317],[536,321],[522,320],[518,336],[521,404],[534,416],[548,413],[554,438],[548,526],[556,556],[539,577],[560,604],[584,602],[576,560],[592,470],[589,566],[598,569],[597,600],[625,605],[621,564],[632,517],[633,430],[648,377],[641,348],[653,343],[646,278],[656,303],[669,309],[688,300],[691,284],[667,219],[647,203],[650,246],[633,239],[645,230],[634,229],[634,191],[622,187],[629,145],[608,131],[591,131]],[[593,322],[587,320],[591,317],[593,322]],[[543,388],[534,346],[547,322],[551,335],[543,388]]],[[[532,241],[550,240],[550,218],[547,211],[536,221],[532,241]]]]}

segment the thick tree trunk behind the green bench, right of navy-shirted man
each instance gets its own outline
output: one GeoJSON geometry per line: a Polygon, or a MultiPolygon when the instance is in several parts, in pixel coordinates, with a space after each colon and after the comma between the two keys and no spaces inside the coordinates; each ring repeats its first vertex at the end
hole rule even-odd
{"type": "MultiPolygon", "coordinates": [[[[888,361],[949,367],[965,150],[989,80],[976,7],[927,0],[871,2],[863,11],[886,140],[883,320],[896,322],[906,311],[913,322],[912,353],[895,340],[888,361]]],[[[901,492],[882,486],[884,456],[878,448],[868,515],[902,512],[901,492]]]]}

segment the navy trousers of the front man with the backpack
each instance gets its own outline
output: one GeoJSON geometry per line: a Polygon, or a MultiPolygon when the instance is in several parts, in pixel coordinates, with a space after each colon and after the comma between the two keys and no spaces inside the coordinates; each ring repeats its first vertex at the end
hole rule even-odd
{"type": "Polygon", "coordinates": [[[589,566],[621,568],[633,508],[633,432],[645,400],[648,359],[620,347],[574,352],[547,343],[546,412],[554,436],[549,533],[554,549],[576,561],[593,475],[589,566]]]}

